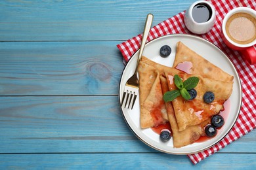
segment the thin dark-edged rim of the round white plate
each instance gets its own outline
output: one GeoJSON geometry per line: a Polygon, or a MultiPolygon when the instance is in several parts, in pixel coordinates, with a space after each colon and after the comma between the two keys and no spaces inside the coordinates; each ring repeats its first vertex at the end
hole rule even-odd
{"type": "Polygon", "coordinates": [[[133,131],[133,128],[129,125],[129,122],[127,122],[127,119],[125,118],[125,115],[123,113],[123,110],[121,108],[121,101],[120,101],[120,88],[121,88],[121,80],[123,78],[123,73],[125,71],[125,69],[127,68],[127,65],[128,63],[131,61],[131,58],[133,58],[133,56],[135,56],[135,54],[137,54],[137,52],[139,52],[139,49],[136,50],[134,52],[134,54],[131,56],[131,58],[129,59],[129,61],[127,61],[127,63],[125,64],[125,67],[123,68],[123,71],[121,73],[121,76],[120,76],[120,80],[119,80],[119,88],[118,88],[118,103],[119,103],[119,109],[121,110],[121,114],[123,116],[123,119],[125,120],[125,123],[127,124],[127,126],[129,127],[129,129],[133,132],[133,134],[138,138],[140,139],[140,141],[142,141],[144,144],[146,144],[147,146],[150,146],[150,148],[154,148],[155,150],[158,150],[160,152],[164,152],[164,153],[167,153],[167,154],[174,154],[174,155],[187,155],[187,154],[196,154],[198,152],[202,152],[203,150],[207,150],[209,148],[211,148],[212,146],[214,146],[215,144],[219,143],[221,140],[224,139],[224,137],[226,137],[226,135],[228,135],[228,133],[230,133],[230,131],[232,130],[232,127],[234,127],[234,125],[236,124],[237,120],[238,120],[238,117],[239,117],[239,114],[240,114],[240,111],[241,111],[241,107],[242,107],[242,101],[243,101],[243,90],[242,90],[242,82],[241,82],[241,78],[238,74],[238,71],[236,70],[236,67],[234,67],[234,63],[233,61],[231,61],[231,59],[229,58],[229,56],[223,52],[223,50],[221,50],[221,48],[219,48],[219,46],[213,44],[213,42],[207,40],[207,39],[203,39],[202,37],[198,36],[198,35],[189,35],[189,34],[185,34],[185,33],[174,33],[174,34],[169,34],[169,35],[163,35],[163,36],[160,36],[160,37],[157,37],[156,39],[152,39],[151,41],[148,41],[146,42],[146,44],[150,43],[150,42],[153,42],[153,41],[157,41],[158,39],[162,38],[162,37],[172,37],[172,36],[184,36],[184,37],[192,37],[192,38],[196,38],[196,39],[200,39],[201,41],[205,41],[209,44],[211,44],[212,46],[215,46],[216,48],[218,48],[220,50],[220,52],[222,52],[224,54],[224,56],[226,56],[227,58],[227,61],[230,62],[230,64],[232,65],[233,69],[234,69],[234,72],[238,78],[238,84],[239,84],[239,89],[240,89],[240,105],[239,105],[239,109],[238,109],[238,114],[236,115],[236,118],[234,120],[234,124],[232,124],[232,126],[229,127],[228,131],[226,131],[226,133],[223,135],[223,137],[221,139],[219,139],[219,141],[216,141],[214,142],[213,144],[210,144],[209,146],[205,147],[205,148],[202,148],[200,150],[197,150],[197,151],[194,151],[194,152],[169,152],[169,151],[166,151],[166,150],[162,150],[156,146],[153,146],[152,144],[149,144],[147,143],[144,139],[142,139],[141,137],[139,137],[139,135],[137,135],[137,133],[135,133],[135,131],[133,131]]]}

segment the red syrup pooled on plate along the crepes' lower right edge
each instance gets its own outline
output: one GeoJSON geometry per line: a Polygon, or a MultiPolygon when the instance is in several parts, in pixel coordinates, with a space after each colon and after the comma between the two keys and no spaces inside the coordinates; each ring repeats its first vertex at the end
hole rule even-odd
{"type": "MultiPolygon", "coordinates": [[[[223,109],[219,112],[219,114],[221,116],[223,116],[224,118],[224,122],[226,122],[227,118],[228,118],[228,114],[230,112],[230,99],[227,99],[224,103],[223,103],[223,109]]],[[[224,125],[223,125],[224,126],[224,125]]],[[[223,127],[220,127],[217,129],[217,135],[219,135],[221,133],[221,131],[223,131],[223,127]]],[[[216,135],[216,136],[217,136],[216,135]]],[[[216,137],[215,136],[215,137],[216,137]]],[[[212,139],[212,137],[207,137],[207,136],[202,136],[200,137],[196,143],[203,143],[205,141],[208,141],[209,139],[212,139]]]]}

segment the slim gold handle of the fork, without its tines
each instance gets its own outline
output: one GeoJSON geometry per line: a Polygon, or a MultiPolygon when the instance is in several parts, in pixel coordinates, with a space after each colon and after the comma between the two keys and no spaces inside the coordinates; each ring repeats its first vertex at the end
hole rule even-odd
{"type": "Polygon", "coordinates": [[[142,56],[142,53],[143,53],[143,50],[144,50],[144,47],[145,47],[145,44],[146,44],[146,39],[148,38],[148,33],[150,31],[150,27],[152,25],[153,18],[154,18],[153,14],[148,14],[148,16],[146,17],[146,22],[145,22],[144,31],[143,31],[143,34],[142,34],[142,40],[141,40],[141,44],[140,44],[140,51],[139,51],[139,56],[138,56],[138,59],[137,59],[135,74],[137,74],[137,71],[138,71],[139,61],[140,61],[140,58],[142,56]]]}

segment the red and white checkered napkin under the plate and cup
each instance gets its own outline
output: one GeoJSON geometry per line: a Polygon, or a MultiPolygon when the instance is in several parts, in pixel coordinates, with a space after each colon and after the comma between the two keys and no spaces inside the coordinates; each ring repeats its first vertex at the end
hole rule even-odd
{"type": "MultiPolygon", "coordinates": [[[[188,158],[190,158],[194,164],[221,150],[224,146],[236,141],[236,139],[239,139],[256,127],[256,65],[249,65],[249,63],[242,59],[242,56],[240,56],[237,51],[228,48],[221,39],[221,23],[226,13],[236,7],[250,7],[255,10],[256,2],[255,0],[212,0],[211,3],[214,5],[216,10],[215,26],[208,33],[201,35],[201,37],[219,46],[219,48],[221,48],[221,50],[223,50],[223,52],[225,52],[234,63],[234,66],[238,71],[238,75],[241,78],[243,99],[240,115],[230,133],[228,133],[228,135],[226,135],[226,137],[224,137],[224,139],[219,143],[215,144],[215,146],[197,154],[188,155],[188,158]]],[[[184,11],[152,27],[148,36],[148,41],[172,33],[190,33],[184,25],[183,18],[184,11]]],[[[128,41],[117,44],[117,48],[121,51],[125,61],[128,61],[139,49],[141,38],[142,35],[137,35],[137,37],[133,37],[128,41]]]]}

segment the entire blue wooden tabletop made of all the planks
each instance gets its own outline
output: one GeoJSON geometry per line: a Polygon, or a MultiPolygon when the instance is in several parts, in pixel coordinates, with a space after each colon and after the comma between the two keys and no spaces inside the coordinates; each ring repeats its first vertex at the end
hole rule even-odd
{"type": "Polygon", "coordinates": [[[253,169],[256,131],[192,165],[131,132],[116,44],[194,0],[0,1],[0,169],[253,169]]]}

